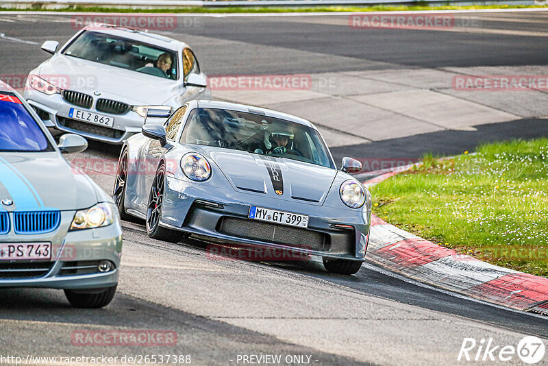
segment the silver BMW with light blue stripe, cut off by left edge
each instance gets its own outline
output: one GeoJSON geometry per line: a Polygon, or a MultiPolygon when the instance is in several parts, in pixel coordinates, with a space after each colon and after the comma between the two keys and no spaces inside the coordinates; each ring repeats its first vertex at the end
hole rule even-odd
{"type": "Polygon", "coordinates": [[[29,104],[0,81],[0,288],[64,289],[76,307],[107,305],[118,284],[122,230],[112,198],[62,153],[29,104]]]}

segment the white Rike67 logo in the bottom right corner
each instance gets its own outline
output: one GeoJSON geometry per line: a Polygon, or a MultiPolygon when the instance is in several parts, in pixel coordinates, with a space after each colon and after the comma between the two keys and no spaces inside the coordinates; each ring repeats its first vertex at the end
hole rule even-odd
{"type": "Polygon", "coordinates": [[[497,345],[493,338],[476,341],[465,338],[460,347],[457,361],[484,362],[484,361],[516,361],[516,357],[523,363],[534,365],[543,360],[546,347],[542,339],[534,336],[523,337],[517,347],[514,345],[497,345]]]}

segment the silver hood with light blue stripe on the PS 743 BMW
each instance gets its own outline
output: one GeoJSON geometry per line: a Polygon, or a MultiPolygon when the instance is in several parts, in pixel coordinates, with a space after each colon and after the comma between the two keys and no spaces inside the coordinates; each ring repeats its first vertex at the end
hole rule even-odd
{"type": "Polygon", "coordinates": [[[94,184],[57,152],[0,154],[0,205],[8,210],[75,210],[97,203],[94,184]],[[74,173],[73,173],[74,172],[74,173]]]}

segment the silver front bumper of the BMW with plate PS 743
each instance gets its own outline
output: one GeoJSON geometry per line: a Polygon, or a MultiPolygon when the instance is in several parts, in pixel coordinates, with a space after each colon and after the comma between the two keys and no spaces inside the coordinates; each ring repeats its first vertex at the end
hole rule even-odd
{"type": "Polygon", "coordinates": [[[62,211],[60,227],[47,234],[0,236],[1,243],[51,243],[51,260],[0,260],[0,287],[103,289],[118,284],[122,229],[118,219],[103,228],[69,232],[75,211],[62,211]],[[100,272],[101,260],[113,268],[100,272]]]}

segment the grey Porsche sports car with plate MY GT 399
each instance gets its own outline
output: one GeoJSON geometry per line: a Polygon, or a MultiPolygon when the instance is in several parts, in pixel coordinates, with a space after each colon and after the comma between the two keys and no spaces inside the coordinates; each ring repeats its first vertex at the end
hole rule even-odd
{"type": "Polygon", "coordinates": [[[164,125],[145,124],[125,141],[114,199],[123,217],[145,219],[155,239],[192,234],[312,254],[328,271],[353,274],[371,219],[369,191],[348,174],[360,169],[344,158],[338,171],[309,121],[190,101],[164,125]]]}

